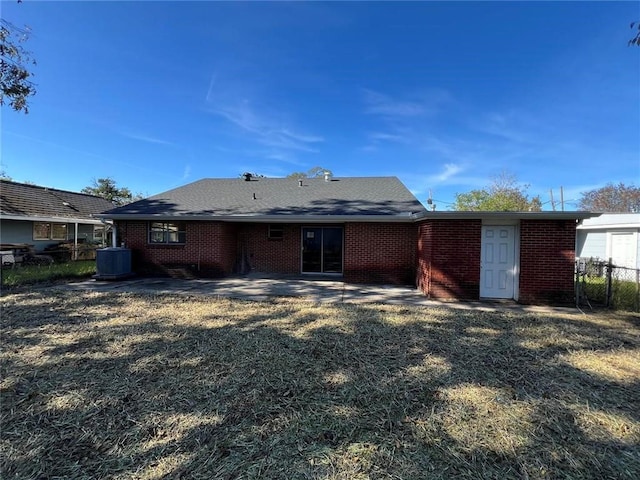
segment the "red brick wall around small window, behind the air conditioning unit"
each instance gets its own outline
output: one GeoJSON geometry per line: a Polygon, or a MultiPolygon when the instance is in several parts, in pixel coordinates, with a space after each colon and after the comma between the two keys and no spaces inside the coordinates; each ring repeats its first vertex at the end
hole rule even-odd
{"type": "Polygon", "coordinates": [[[148,222],[117,222],[118,238],[132,250],[134,271],[182,266],[203,276],[231,273],[236,261],[236,226],[221,222],[187,222],[184,245],[151,245],[148,222]]]}

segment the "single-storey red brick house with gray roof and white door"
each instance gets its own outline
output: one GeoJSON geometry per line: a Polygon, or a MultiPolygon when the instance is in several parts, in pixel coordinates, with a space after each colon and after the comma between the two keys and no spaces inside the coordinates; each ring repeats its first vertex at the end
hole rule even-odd
{"type": "Polygon", "coordinates": [[[203,179],[105,212],[134,271],[417,285],[434,298],[571,302],[585,212],[428,212],[395,177],[203,179]]]}

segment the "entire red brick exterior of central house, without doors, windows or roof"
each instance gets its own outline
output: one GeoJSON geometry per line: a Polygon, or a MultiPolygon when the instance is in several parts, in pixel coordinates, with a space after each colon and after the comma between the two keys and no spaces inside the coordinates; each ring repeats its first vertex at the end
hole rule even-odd
{"type": "MultiPolygon", "coordinates": [[[[575,222],[522,220],[519,301],[573,301],[575,222]]],[[[246,252],[253,271],[300,272],[300,225],[284,225],[282,240],[267,224],[188,222],[185,245],[149,245],[148,222],[117,222],[132,249],[134,271],[188,266],[203,276],[234,271],[246,252]]],[[[344,278],[354,283],[413,284],[433,298],[476,299],[480,293],[480,220],[428,220],[420,225],[344,225],[344,278]]]]}

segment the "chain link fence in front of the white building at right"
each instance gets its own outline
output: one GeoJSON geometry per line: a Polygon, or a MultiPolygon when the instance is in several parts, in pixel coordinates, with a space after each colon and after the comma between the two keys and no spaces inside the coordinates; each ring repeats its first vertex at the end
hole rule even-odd
{"type": "Polygon", "coordinates": [[[640,312],[640,270],[611,260],[577,259],[576,305],[640,312]]]}

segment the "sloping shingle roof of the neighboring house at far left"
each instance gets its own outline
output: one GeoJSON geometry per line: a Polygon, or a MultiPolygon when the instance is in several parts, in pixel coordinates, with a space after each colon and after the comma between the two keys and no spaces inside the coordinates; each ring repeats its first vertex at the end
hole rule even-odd
{"type": "Polygon", "coordinates": [[[0,180],[0,214],[90,219],[113,208],[104,198],[55,188],[0,180]]]}

